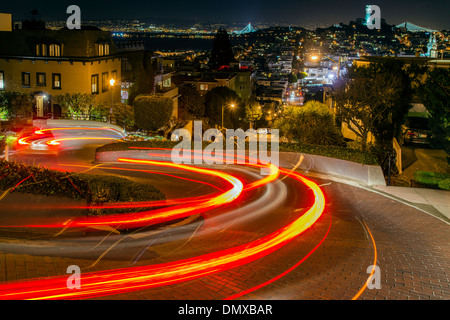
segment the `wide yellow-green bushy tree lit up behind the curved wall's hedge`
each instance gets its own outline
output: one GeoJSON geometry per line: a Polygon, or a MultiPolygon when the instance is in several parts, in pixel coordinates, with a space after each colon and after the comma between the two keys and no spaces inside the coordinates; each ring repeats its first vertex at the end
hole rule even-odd
{"type": "Polygon", "coordinates": [[[289,140],[317,145],[344,145],[339,129],[334,125],[333,113],[318,101],[303,107],[287,107],[274,127],[289,140]]]}

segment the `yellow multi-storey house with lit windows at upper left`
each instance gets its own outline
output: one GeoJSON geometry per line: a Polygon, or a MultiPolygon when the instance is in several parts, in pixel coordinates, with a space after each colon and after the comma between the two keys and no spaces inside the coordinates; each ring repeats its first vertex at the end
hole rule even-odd
{"type": "Polygon", "coordinates": [[[61,117],[66,110],[57,104],[58,95],[92,94],[97,104],[120,102],[121,57],[110,33],[93,27],[0,31],[0,80],[0,90],[34,98],[35,118],[61,117]]]}

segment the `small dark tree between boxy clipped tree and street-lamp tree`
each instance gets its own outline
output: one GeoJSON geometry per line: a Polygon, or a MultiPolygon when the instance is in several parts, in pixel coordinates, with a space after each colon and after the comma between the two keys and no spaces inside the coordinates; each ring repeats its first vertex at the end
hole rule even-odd
{"type": "Polygon", "coordinates": [[[178,106],[188,119],[199,119],[205,116],[205,104],[194,85],[184,84],[179,87],[180,98],[178,106]]]}

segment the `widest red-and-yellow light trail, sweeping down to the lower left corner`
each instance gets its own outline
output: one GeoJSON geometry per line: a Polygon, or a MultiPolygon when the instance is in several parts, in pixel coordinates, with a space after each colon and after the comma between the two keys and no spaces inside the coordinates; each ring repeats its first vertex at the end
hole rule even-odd
{"type": "MultiPolygon", "coordinates": [[[[122,159],[122,161],[163,166],[175,165],[137,159],[122,159]]],[[[316,183],[298,173],[281,168],[279,170],[282,174],[288,175],[290,178],[310,188],[314,194],[314,204],[306,213],[293,222],[267,236],[244,245],[180,261],[86,273],[83,274],[80,290],[68,289],[66,277],[52,277],[46,280],[5,284],[1,287],[0,298],[82,299],[118,294],[193,280],[258,260],[283,247],[310,228],[320,218],[325,207],[324,195],[316,183]]],[[[222,176],[223,174],[221,172],[218,173],[218,176],[222,176]]],[[[239,181],[238,179],[236,180],[239,181]]],[[[237,181],[235,182],[237,183],[237,181]]],[[[242,183],[239,181],[237,184],[240,184],[240,189],[238,189],[242,191],[242,183]]],[[[234,190],[235,187],[236,185],[230,191],[234,190]]],[[[236,193],[236,191],[234,190],[232,192],[231,198],[239,195],[239,192],[236,193]]],[[[225,199],[231,201],[230,198],[225,199]]],[[[215,203],[215,201],[213,202],[215,203]]]]}

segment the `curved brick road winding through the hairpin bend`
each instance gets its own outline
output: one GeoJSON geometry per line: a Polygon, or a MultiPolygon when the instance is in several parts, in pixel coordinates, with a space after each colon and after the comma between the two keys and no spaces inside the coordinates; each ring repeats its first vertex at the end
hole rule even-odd
{"type": "MultiPolygon", "coordinates": [[[[51,159],[29,155],[16,158],[33,159],[58,169],[147,181],[169,199],[201,196],[224,187],[215,178],[170,168],[152,168],[158,171],[154,173],[143,173],[149,167],[135,164],[93,168],[94,150],[94,146],[85,146],[51,159]]],[[[247,182],[261,178],[253,168],[215,169],[247,182]]],[[[312,180],[325,195],[325,211],[311,228],[276,252],[194,280],[95,299],[450,298],[448,224],[377,193],[331,180],[312,180]],[[371,271],[376,279],[366,287],[371,271]]],[[[169,263],[256,241],[301,216],[312,203],[308,187],[280,176],[230,205],[158,228],[125,234],[107,227],[82,233],[51,230],[53,234],[41,239],[4,236],[0,239],[0,296],[4,281],[67,276],[70,265],[81,268],[83,279],[85,272],[169,263]]]]}

